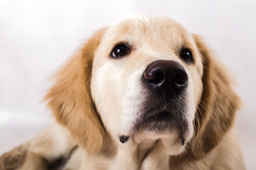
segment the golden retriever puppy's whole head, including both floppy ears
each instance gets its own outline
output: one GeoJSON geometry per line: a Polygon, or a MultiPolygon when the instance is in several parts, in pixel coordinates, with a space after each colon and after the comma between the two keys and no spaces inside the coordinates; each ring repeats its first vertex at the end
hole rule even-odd
{"type": "Polygon", "coordinates": [[[189,145],[201,155],[233,125],[239,98],[231,83],[198,35],[169,18],[139,16],[98,30],[46,98],[89,152],[107,133],[115,142],[159,140],[168,154],[189,145]]]}

